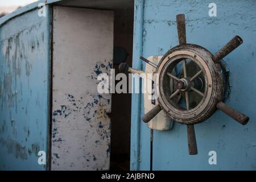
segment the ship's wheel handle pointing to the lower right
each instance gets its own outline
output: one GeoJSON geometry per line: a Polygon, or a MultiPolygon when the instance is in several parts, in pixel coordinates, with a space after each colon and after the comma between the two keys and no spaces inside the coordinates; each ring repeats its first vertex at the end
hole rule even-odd
{"type": "Polygon", "coordinates": [[[246,125],[250,119],[247,115],[240,113],[240,111],[233,109],[224,102],[218,102],[216,107],[242,125],[246,125]]]}

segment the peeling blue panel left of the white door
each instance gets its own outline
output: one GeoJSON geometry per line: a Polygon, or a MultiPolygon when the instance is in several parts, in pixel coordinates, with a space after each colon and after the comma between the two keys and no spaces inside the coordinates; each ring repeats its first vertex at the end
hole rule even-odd
{"type": "Polygon", "coordinates": [[[0,27],[0,169],[45,170],[38,151],[48,149],[49,9],[0,27]]]}

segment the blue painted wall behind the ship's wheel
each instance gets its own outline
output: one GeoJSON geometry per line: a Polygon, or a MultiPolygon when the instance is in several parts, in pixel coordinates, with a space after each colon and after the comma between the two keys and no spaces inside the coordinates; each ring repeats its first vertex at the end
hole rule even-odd
{"type": "MultiPolygon", "coordinates": [[[[250,121],[246,126],[242,126],[227,115],[216,111],[207,121],[195,126],[199,150],[199,154],[195,156],[188,155],[185,125],[175,123],[170,131],[154,131],[155,170],[256,169],[256,2],[216,0],[214,3],[217,4],[217,17],[209,17],[209,3],[210,1],[205,0],[145,0],[144,20],[141,26],[142,56],[162,55],[178,44],[176,14],[180,13],[185,14],[187,19],[187,42],[199,44],[213,53],[233,36],[240,35],[243,44],[224,59],[227,69],[230,70],[231,86],[230,95],[225,102],[249,115],[250,121]],[[208,152],[212,150],[217,152],[217,165],[208,163],[208,152]]],[[[138,12],[135,11],[135,14],[138,12]]],[[[139,23],[141,22],[135,21],[135,26],[138,27],[139,23]]],[[[138,49],[135,49],[135,53],[138,52],[138,49]]],[[[137,65],[138,57],[134,57],[133,62],[137,65]]],[[[145,68],[144,64],[142,67],[145,68]]],[[[143,96],[140,99],[143,105],[143,96]]],[[[133,103],[138,101],[139,98],[133,97],[133,103]]],[[[133,107],[133,114],[139,114],[138,111],[135,112],[136,109],[137,107],[133,107]]],[[[142,110],[141,116],[143,114],[142,110]]],[[[135,115],[132,118],[136,118],[135,115]]],[[[137,152],[140,155],[135,158],[132,148],[131,158],[137,161],[139,169],[149,169],[150,130],[142,121],[137,122],[141,122],[140,132],[137,134],[140,139],[137,152]]],[[[136,121],[132,121],[133,123],[136,121]]]]}

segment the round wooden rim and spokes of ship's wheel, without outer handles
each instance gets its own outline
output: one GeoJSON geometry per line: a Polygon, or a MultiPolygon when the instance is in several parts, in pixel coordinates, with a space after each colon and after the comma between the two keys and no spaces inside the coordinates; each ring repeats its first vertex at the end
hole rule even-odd
{"type": "Polygon", "coordinates": [[[158,102],[165,113],[172,119],[183,124],[195,124],[205,121],[216,110],[216,103],[222,100],[224,93],[224,81],[221,75],[221,67],[214,64],[212,53],[195,44],[185,44],[172,48],[160,60],[156,73],[159,73],[159,97],[158,102]],[[197,65],[197,73],[188,75],[187,64],[193,61],[197,65]],[[183,78],[172,75],[178,66],[183,67],[183,78]],[[197,77],[204,78],[203,88],[196,84],[197,77]],[[176,81],[176,91],[171,93],[170,78],[176,81]],[[172,101],[174,94],[184,93],[185,98],[178,104],[172,101]],[[191,98],[197,94],[200,102],[193,106],[191,98]],[[170,99],[172,97],[172,99],[170,99]]]}

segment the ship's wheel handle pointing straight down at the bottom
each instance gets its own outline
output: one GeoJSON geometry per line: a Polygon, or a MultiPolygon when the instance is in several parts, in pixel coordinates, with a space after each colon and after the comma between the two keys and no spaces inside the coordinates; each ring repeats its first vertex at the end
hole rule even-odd
{"type": "Polygon", "coordinates": [[[197,154],[197,144],[196,144],[196,133],[195,133],[194,125],[187,125],[187,133],[188,133],[189,155],[196,155],[197,154]]]}

